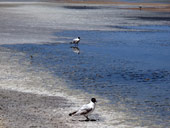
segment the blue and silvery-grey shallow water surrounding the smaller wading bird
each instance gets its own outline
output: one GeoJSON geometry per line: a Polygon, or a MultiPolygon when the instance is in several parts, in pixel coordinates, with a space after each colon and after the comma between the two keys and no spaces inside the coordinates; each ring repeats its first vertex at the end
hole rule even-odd
{"type": "MultiPolygon", "coordinates": [[[[21,66],[25,65],[26,60],[30,61],[29,66],[33,68],[28,68],[28,72],[48,71],[54,77],[65,79],[70,89],[107,98],[110,104],[117,107],[117,111],[130,112],[139,117],[141,126],[169,126],[169,13],[133,12],[110,6],[84,9],[84,6],[77,5],[43,5],[38,9],[36,6],[20,7],[14,9],[19,15],[13,12],[10,15],[24,20],[16,18],[10,24],[4,22],[8,17],[3,17],[1,21],[3,26],[13,28],[11,32],[16,35],[15,41],[11,36],[9,40],[2,36],[2,42],[22,43],[20,37],[23,36],[24,41],[31,43],[32,38],[39,40],[44,35],[46,38],[53,37],[50,41],[48,39],[49,43],[44,41],[45,44],[1,45],[26,53],[26,57],[19,60],[21,66]],[[21,10],[26,15],[21,15],[21,10]],[[46,31],[54,27],[61,31],[53,29],[49,36],[46,31]],[[78,48],[69,44],[77,36],[81,37],[78,48]],[[121,105],[126,107],[122,108],[121,105]]],[[[0,31],[6,30],[5,35],[8,35],[10,30],[6,28],[0,31]]]]}

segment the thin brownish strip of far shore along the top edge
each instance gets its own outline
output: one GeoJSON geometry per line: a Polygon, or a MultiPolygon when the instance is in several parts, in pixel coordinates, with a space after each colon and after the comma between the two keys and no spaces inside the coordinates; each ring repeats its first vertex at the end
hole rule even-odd
{"type": "Polygon", "coordinates": [[[104,1],[50,1],[50,2],[0,2],[0,7],[12,7],[13,4],[39,4],[39,3],[65,3],[65,4],[77,4],[77,5],[110,5],[110,6],[120,6],[119,9],[127,10],[141,10],[141,11],[153,11],[153,12],[170,12],[170,4],[164,3],[135,3],[135,2],[104,2],[104,1]]]}

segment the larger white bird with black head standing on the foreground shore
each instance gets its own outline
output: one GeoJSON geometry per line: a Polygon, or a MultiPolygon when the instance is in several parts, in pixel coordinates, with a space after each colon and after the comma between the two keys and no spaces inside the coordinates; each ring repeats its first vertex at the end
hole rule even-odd
{"type": "Polygon", "coordinates": [[[89,104],[85,104],[83,105],[80,109],[78,109],[77,111],[74,111],[72,113],[69,114],[69,116],[80,116],[83,115],[86,117],[87,120],[90,120],[88,118],[88,115],[91,114],[94,109],[95,109],[95,105],[96,105],[96,99],[95,98],[91,98],[91,101],[89,104]]]}

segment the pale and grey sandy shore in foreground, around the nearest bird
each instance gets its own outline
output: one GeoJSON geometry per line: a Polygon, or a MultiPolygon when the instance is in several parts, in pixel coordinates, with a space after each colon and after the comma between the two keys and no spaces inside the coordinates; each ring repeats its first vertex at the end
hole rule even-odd
{"type": "Polygon", "coordinates": [[[18,63],[20,59],[26,57],[24,53],[1,47],[0,54],[3,56],[0,59],[3,62],[0,63],[0,74],[3,76],[0,83],[0,107],[2,108],[0,120],[4,127],[22,128],[24,125],[49,128],[93,126],[109,128],[112,127],[112,123],[118,123],[117,128],[122,126],[126,128],[132,125],[126,124],[128,122],[121,123],[121,120],[127,120],[122,112],[109,112],[110,108],[103,106],[107,103],[106,100],[80,90],[66,88],[62,79],[54,78],[48,72],[30,72],[29,60],[22,66],[18,63]],[[56,83],[57,87],[53,88],[56,83]],[[48,90],[48,88],[53,89],[48,90]],[[70,112],[88,103],[91,97],[99,99],[95,112],[90,116],[97,121],[85,122],[83,116],[68,116],[70,112]]]}

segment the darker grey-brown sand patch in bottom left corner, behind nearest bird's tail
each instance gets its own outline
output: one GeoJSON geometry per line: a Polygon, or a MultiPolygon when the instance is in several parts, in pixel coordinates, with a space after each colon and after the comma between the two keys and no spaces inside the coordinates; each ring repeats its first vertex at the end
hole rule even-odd
{"type": "Polygon", "coordinates": [[[59,112],[70,105],[62,97],[0,90],[2,128],[67,128],[59,112]]]}

